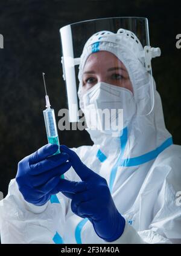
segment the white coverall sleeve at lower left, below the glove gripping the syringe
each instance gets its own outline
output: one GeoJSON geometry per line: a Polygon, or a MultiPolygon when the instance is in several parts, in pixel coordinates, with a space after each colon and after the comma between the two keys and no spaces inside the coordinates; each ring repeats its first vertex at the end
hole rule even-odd
{"type": "Polygon", "coordinates": [[[68,205],[65,196],[60,203],[28,203],[16,180],[11,180],[7,196],[0,201],[1,243],[54,243],[57,232],[63,235],[68,205]]]}

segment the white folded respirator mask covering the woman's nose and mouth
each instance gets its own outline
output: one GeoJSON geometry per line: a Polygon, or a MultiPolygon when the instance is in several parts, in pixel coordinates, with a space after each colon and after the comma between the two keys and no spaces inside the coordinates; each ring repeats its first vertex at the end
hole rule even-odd
{"type": "Polygon", "coordinates": [[[98,82],[83,94],[81,108],[89,130],[119,136],[135,114],[136,103],[130,90],[98,82]]]}

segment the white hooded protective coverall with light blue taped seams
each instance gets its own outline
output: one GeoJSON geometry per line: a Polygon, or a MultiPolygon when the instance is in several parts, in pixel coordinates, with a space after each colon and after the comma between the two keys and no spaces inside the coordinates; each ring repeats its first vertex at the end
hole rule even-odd
{"type": "MultiPolygon", "coordinates": [[[[109,45],[102,46],[114,53],[109,45]]],[[[125,49],[118,57],[129,71],[133,88],[144,85],[141,62],[125,49]]],[[[135,116],[120,137],[89,131],[94,145],[73,148],[85,165],[107,180],[116,208],[126,220],[123,234],[110,244],[181,239],[181,206],[176,203],[181,191],[181,146],[173,145],[165,128],[155,84],[154,97],[153,111],[135,116]]],[[[80,181],[73,168],[64,175],[80,181]]],[[[87,218],[71,211],[71,199],[61,192],[45,205],[35,206],[24,200],[15,179],[0,202],[0,227],[2,243],[108,243],[98,237],[87,218]]]]}

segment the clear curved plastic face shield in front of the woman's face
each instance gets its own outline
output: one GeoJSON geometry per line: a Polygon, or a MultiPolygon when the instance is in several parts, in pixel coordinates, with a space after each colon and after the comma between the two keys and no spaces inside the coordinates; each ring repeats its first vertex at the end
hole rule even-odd
{"type": "Polygon", "coordinates": [[[78,122],[78,109],[84,112],[85,106],[90,111],[122,108],[129,118],[151,113],[151,59],[160,49],[150,47],[146,18],[77,22],[60,28],[60,36],[70,122],[78,122]]]}

